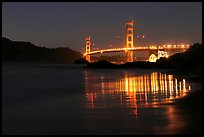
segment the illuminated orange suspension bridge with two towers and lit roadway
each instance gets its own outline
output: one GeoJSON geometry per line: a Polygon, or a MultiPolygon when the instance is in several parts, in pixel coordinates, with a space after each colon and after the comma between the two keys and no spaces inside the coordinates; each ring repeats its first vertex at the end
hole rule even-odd
{"type": "Polygon", "coordinates": [[[126,62],[133,62],[133,52],[134,51],[148,51],[149,52],[149,61],[156,62],[157,59],[161,57],[168,57],[175,53],[184,52],[190,46],[189,45],[161,45],[161,46],[133,46],[133,36],[134,36],[134,27],[133,20],[126,22],[126,47],[125,48],[108,48],[91,51],[91,37],[86,38],[86,52],[83,54],[87,61],[91,62],[91,55],[94,54],[103,54],[111,52],[125,52],[126,53],[126,62]]]}

